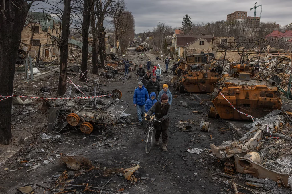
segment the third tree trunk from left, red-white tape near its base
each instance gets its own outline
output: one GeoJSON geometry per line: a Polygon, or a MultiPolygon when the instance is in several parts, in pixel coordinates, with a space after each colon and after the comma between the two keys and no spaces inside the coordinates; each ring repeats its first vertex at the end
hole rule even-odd
{"type": "Polygon", "coordinates": [[[81,73],[80,81],[86,81],[87,58],[88,58],[88,29],[90,24],[90,11],[92,3],[90,0],[84,0],[83,21],[82,21],[82,59],[81,59],[81,73]],[[84,75],[83,75],[84,74],[84,75]]]}

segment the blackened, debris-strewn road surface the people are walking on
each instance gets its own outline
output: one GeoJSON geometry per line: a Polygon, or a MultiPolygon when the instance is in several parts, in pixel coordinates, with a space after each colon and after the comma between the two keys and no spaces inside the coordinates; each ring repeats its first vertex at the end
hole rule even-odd
{"type": "MultiPolygon", "coordinates": [[[[145,55],[141,54],[141,52],[135,52],[133,48],[130,48],[125,58],[146,63],[145,55]]],[[[162,63],[162,68],[165,69],[165,64],[162,61],[156,61],[156,55],[150,53],[147,53],[147,55],[154,64],[162,63]]],[[[105,131],[108,145],[104,144],[100,130],[93,131],[90,135],[85,135],[79,130],[70,131],[72,129],[67,129],[61,134],[62,143],[46,145],[47,148],[57,150],[63,155],[70,153],[88,158],[94,166],[98,167],[97,170],[91,170],[74,177],[74,181],[70,182],[70,184],[88,183],[89,186],[101,187],[109,179],[112,179],[105,186],[106,189],[118,190],[123,187],[124,193],[131,194],[226,193],[224,189],[226,179],[218,177],[220,170],[223,170],[224,166],[216,158],[209,156],[210,153],[204,149],[210,148],[210,143],[220,145],[223,140],[232,140],[232,131],[219,132],[218,129],[222,128],[224,124],[219,119],[206,117],[208,111],[206,105],[194,100],[189,93],[178,93],[173,90],[174,88],[170,88],[173,103],[171,104],[171,124],[168,130],[168,151],[163,152],[160,146],[153,145],[150,154],[145,154],[145,142],[142,140],[144,139],[146,122],[144,121],[141,126],[136,125],[138,119],[136,108],[133,106],[133,92],[137,87],[138,80],[135,72],[131,72],[131,76],[129,80],[112,81],[108,83],[107,88],[102,88],[108,91],[113,89],[122,91],[123,97],[121,100],[128,102],[129,107],[126,113],[131,114],[132,121],[132,124],[117,126],[115,129],[105,131]],[[189,107],[183,107],[181,102],[186,102],[189,107]],[[203,113],[192,113],[194,110],[200,110],[203,113]],[[209,132],[199,130],[201,119],[211,121],[209,132]],[[189,122],[192,126],[192,131],[178,129],[177,122],[180,120],[189,122]],[[210,135],[213,137],[212,140],[210,140],[210,135]],[[203,151],[200,154],[186,152],[190,148],[199,148],[203,151]],[[131,167],[133,161],[140,162],[138,172],[134,173],[135,177],[139,179],[135,185],[132,185],[130,181],[124,179],[124,176],[120,176],[115,172],[117,169],[131,167]]],[[[161,84],[168,83],[171,77],[170,72],[165,74],[162,77],[161,84]]],[[[58,175],[65,170],[69,171],[65,164],[60,162],[60,157],[53,156],[53,154],[36,152],[34,158],[50,158],[51,162],[46,165],[42,164],[35,170],[28,169],[27,166],[22,166],[18,162],[10,166],[8,166],[8,163],[4,168],[9,169],[1,172],[4,179],[0,181],[0,191],[3,193],[15,193],[15,188],[27,183],[34,184],[34,188],[36,184],[51,187],[55,185],[53,175],[58,175]]],[[[14,159],[17,160],[18,158],[15,157],[14,159]]],[[[72,188],[68,188],[65,191],[69,191],[69,189],[72,190],[72,188]]],[[[38,188],[35,191],[44,193],[43,190],[38,188]]],[[[77,188],[76,191],[83,190],[84,188],[77,188]]],[[[60,191],[57,188],[52,191],[46,191],[46,193],[54,192],[58,193],[60,191]]],[[[84,193],[94,192],[86,191],[84,193]]]]}

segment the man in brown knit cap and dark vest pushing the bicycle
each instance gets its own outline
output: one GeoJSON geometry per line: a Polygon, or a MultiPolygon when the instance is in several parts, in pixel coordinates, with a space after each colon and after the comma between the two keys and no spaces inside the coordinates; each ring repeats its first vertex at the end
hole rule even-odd
{"type": "Polygon", "coordinates": [[[162,150],[167,151],[168,134],[167,129],[169,125],[169,117],[171,113],[170,104],[168,103],[168,96],[164,93],[161,99],[156,102],[150,110],[147,112],[146,119],[150,120],[152,113],[155,113],[155,117],[161,122],[154,122],[153,125],[156,129],[155,133],[155,145],[159,145],[160,134],[162,133],[162,150]]]}

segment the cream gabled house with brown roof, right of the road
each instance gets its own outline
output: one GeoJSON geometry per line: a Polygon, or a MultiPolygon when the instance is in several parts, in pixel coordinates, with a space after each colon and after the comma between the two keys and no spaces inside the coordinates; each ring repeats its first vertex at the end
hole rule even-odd
{"type": "Polygon", "coordinates": [[[178,56],[196,54],[198,50],[212,49],[213,35],[184,35],[174,33],[171,52],[178,56]]]}

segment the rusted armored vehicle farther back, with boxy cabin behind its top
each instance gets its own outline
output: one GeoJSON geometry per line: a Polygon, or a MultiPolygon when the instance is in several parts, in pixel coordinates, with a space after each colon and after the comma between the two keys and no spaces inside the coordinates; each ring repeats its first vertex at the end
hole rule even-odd
{"type": "Polygon", "coordinates": [[[208,56],[192,54],[180,63],[171,80],[179,92],[212,92],[220,79],[222,67],[207,63],[208,56]]]}

